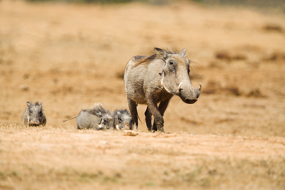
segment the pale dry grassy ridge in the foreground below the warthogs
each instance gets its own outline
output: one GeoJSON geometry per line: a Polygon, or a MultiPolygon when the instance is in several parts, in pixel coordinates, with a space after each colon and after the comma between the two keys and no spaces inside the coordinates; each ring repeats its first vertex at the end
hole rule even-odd
{"type": "Polygon", "coordinates": [[[1,189],[285,187],[284,138],[14,124],[1,124],[1,133],[1,189]]]}

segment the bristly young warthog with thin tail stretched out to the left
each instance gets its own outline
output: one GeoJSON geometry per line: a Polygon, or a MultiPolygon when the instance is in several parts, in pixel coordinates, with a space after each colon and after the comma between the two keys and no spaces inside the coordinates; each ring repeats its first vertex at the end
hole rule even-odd
{"type": "MultiPolygon", "coordinates": [[[[73,119],[73,118],[72,118],[73,119]]],[[[95,103],[89,109],[83,109],[76,118],[78,129],[114,130],[114,118],[109,110],[100,103],[95,103]]]]}

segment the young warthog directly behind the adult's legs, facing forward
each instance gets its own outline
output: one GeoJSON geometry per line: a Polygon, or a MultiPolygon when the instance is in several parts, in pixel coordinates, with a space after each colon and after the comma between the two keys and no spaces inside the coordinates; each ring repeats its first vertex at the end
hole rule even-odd
{"type": "Polygon", "coordinates": [[[127,109],[115,110],[112,113],[117,130],[132,129],[133,119],[127,109]]]}

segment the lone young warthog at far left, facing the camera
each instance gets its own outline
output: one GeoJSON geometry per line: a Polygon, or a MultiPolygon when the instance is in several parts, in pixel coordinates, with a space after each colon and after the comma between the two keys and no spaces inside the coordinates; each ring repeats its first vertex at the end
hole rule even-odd
{"type": "Polygon", "coordinates": [[[42,103],[36,102],[31,104],[27,102],[27,108],[23,115],[23,124],[28,126],[44,126],[46,124],[46,116],[42,110],[42,103]]]}

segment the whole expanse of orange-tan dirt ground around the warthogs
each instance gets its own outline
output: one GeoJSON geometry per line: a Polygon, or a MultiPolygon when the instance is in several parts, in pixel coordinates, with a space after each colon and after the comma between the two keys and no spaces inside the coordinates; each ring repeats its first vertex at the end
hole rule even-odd
{"type": "Polygon", "coordinates": [[[285,15],[190,1],[0,1],[0,189],[284,189],[285,15]],[[186,49],[192,105],[166,134],[77,130],[95,102],[127,108],[123,73],[153,48],[186,49]],[[44,127],[22,125],[40,101],[44,127]]]}

